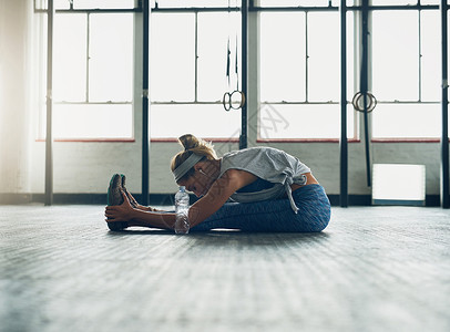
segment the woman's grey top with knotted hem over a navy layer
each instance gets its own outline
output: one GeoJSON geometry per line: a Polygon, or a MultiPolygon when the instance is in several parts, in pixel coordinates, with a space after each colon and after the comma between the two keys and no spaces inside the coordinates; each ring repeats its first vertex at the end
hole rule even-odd
{"type": "Polygon", "coordinates": [[[296,157],[273,147],[250,147],[227,153],[222,157],[219,176],[228,169],[243,169],[274,184],[273,187],[256,193],[234,193],[232,200],[250,203],[277,199],[286,193],[295,212],[298,209],[290,185],[305,185],[306,177],[303,174],[310,172],[309,167],[296,157]]]}

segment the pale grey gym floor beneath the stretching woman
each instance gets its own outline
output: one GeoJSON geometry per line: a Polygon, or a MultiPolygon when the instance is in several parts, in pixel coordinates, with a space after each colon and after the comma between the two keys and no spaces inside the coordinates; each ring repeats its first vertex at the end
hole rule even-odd
{"type": "Polygon", "coordinates": [[[111,232],[0,206],[0,331],[450,331],[450,211],[334,208],[321,234],[111,232]]]}

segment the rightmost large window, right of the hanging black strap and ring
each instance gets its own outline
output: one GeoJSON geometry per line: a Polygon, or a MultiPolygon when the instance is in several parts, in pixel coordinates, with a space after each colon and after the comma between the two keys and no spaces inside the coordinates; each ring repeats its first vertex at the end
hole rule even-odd
{"type": "Polygon", "coordinates": [[[439,11],[374,11],[371,35],[372,137],[440,137],[439,11]]]}

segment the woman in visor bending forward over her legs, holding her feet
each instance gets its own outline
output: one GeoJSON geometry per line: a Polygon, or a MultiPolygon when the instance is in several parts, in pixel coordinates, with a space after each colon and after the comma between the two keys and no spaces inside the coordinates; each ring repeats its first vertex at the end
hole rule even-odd
{"type": "MultiPolygon", "coordinates": [[[[178,186],[200,197],[188,210],[192,231],[308,232],[327,227],[328,197],[297,158],[270,147],[235,151],[217,158],[213,146],[203,139],[187,134],[178,141],[184,151],[173,157],[172,173],[178,186]]],[[[120,200],[109,199],[105,209],[110,229],[174,229],[175,212],[139,205],[120,181],[115,190],[120,200]]]]}

